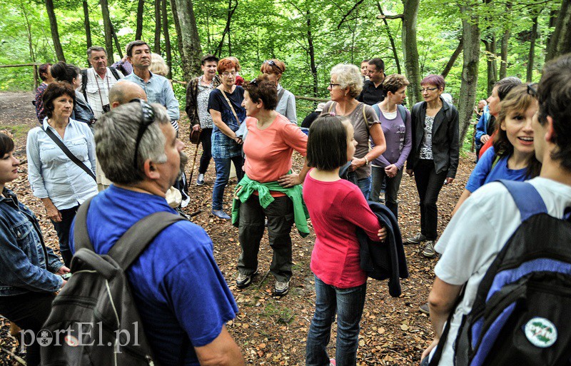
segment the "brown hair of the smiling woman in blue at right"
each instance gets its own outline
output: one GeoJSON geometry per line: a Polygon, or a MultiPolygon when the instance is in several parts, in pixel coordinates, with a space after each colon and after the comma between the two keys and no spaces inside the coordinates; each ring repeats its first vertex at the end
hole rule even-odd
{"type": "MultiPolygon", "coordinates": [[[[500,156],[510,156],[513,153],[513,145],[507,138],[507,133],[499,128],[505,118],[511,113],[525,113],[527,108],[535,103],[535,96],[531,96],[527,93],[527,84],[522,84],[520,86],[515,86],[511,88],[511,91],[507,93],[505,99],[501,102],[500,114],[497,115],[496,124],[498,126],[497,133],[494,137],[494,150],[495,156],[494,160],[500,156]]],[[[541,170],[541,163],[535,158],[535,153],[530,156],[529,161],[527,161],[527,178],[535,178],[539,176],[541,170]]]]}

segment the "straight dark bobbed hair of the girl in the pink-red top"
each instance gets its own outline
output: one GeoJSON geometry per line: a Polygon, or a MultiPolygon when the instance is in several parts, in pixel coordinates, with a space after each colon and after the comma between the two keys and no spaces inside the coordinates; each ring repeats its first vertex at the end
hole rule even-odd
{"type": "Polygon", "coordinates": [[[347,128],[343,117],[325,114],[309,128],[308,166],[333,171],[347,163],[347,128]]]}

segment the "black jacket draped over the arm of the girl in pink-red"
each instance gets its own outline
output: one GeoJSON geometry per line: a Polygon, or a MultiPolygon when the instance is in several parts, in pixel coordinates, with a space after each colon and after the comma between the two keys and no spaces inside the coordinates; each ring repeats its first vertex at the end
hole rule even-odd
{"type": "Polygon", "coordinates": [[[408,278],[405,249],[398,221],[385,205],[369,201],[369,207],[377,215],[380,225],[387,228],[387,238],[384,243],[378,243],[370,240],[365,230],[357,228],[360,267],[375,280],[388,278],[388,293],[393,298],[398,298],[400,296],[399,278],[408,278]]]}

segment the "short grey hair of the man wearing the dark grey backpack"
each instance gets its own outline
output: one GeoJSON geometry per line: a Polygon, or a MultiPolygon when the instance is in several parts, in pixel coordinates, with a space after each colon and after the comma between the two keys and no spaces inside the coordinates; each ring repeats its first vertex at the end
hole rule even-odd
{"type": "Polygon", "coordinates": [[[151,104],[155,119],[138,146],[137,166],[133,166],[138,128],[143,121],[140,103],[127,103],[103,114],[95,124],[96,154],[105,176],[113,183],[133,185],[144,180],[143,163],[166,163],[166,138],[161,125],[171,124],[166,109],[151,104]]]}

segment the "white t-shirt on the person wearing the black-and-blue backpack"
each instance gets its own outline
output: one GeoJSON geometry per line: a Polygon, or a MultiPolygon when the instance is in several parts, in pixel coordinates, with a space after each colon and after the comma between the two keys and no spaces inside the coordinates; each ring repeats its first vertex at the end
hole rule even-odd
{"type": "MultiPolygon", "coordinates": [[[[571,187],[540,177],[529,183],[540,193],[547,212],[562,218],[565,208],[571,206],[571,187]]],[[[464,298],[454,310],[440,365],[454,365],[452,345],[462,317],[472,309],[478,285],[520,223],[520,211],[505,186],[488,183],[463,203],[438,240],[435,249],[442,257],[434,268],[435,274],[450,285],[466,283],[464,298]]]]}

